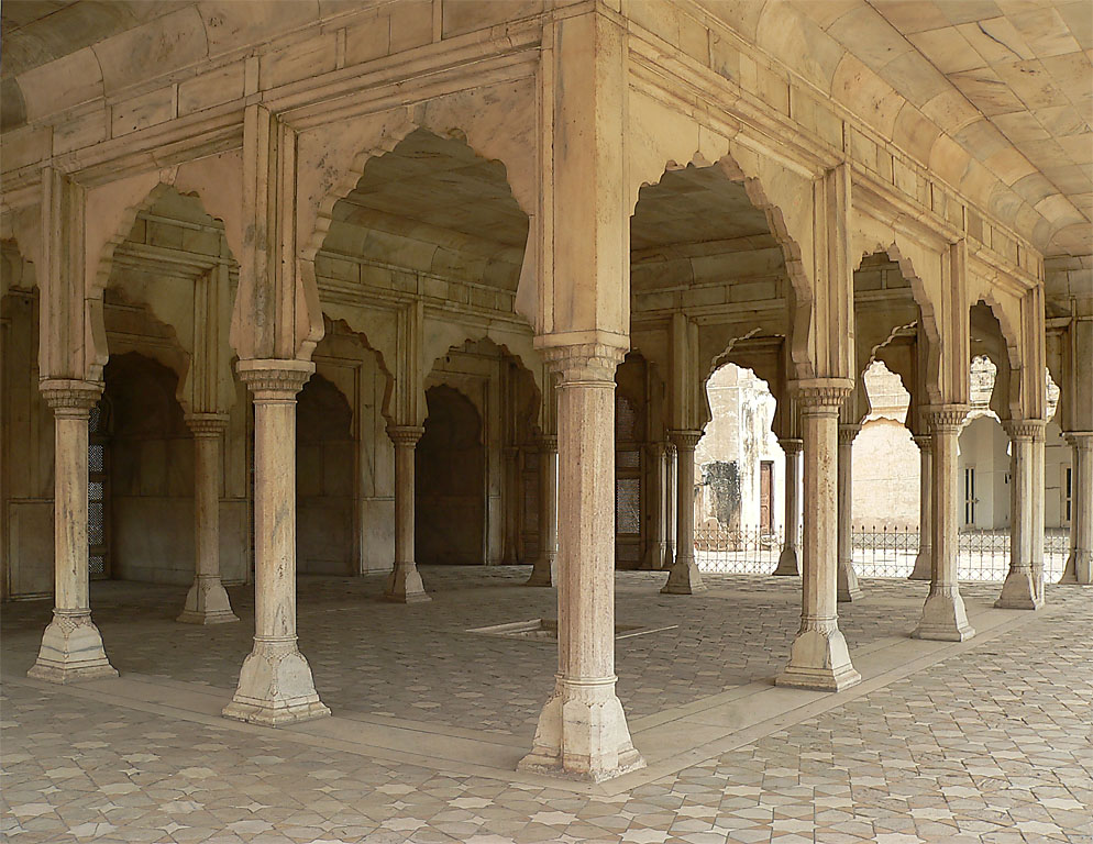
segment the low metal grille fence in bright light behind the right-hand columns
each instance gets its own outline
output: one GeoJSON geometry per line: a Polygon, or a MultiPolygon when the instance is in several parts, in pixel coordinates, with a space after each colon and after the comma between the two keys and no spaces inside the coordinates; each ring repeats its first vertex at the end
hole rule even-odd
{"type": "MultiPolygon", "coordinates": [[[[905,578],[915,567],[917,530],[858,526],[852,533],[852,542],[859,577],[905,578]]],[[[797,547],[801,547],[799,540],[797,547]]],[[[959,548],[957,575],[960,580],[1005,579],[1009,570],[1008,531],[961,533],[959,548]]],[[[769,575],[777,566],[781,553],[781,535],[709,525],[695,529],[695,559],[703,571],[769,575]]],[[[1062,576],[1069,553],[1068,531],[1045,531],[1044,577],[1048,582],[1062,576]]]]}

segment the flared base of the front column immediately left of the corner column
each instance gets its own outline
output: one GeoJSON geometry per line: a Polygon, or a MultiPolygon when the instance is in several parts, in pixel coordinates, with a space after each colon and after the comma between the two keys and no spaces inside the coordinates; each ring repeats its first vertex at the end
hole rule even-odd
{"type": "Polygon", "coordinates": [[[239,688],[224,707],[224,718],[278,726],[329,715],[319,700],[311,667],[291,640],[255,637],[254,649],[243,660],[239,688]]]}

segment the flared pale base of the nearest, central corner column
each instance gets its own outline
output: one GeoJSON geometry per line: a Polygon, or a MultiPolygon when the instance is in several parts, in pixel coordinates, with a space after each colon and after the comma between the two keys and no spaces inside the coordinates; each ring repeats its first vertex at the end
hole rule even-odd
{"type": "Polygon", "coordinates": [[[601,782],[645,767],[633,747],[615,677],[557,678],[520,770],[601,782]]]}

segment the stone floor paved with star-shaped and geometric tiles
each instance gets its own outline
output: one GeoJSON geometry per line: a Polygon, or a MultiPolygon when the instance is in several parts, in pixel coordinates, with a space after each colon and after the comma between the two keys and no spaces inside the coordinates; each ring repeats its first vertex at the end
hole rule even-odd
{"type": "Polygon", "coordinates": [[[774,688],[799,581],[618,576],[619,695],[644,771],[600,786],[517,774],[551,644],[467,633],[554,614],[526,571],[427,569],[432,603],[382,578],[301,578],[300,642],[334,718],[269,730],[216,715],[249,649],[239,625],[172,621],[185,590],[96,584],[122,679],[25,679],[45,602],[2,618],[2,835],[33,842],[1091,842],[1093,590],[1038,613],[965,589],[976,638],[906,637],[921,584],[866,580],[840,607],[864,682],[774,688]]]}

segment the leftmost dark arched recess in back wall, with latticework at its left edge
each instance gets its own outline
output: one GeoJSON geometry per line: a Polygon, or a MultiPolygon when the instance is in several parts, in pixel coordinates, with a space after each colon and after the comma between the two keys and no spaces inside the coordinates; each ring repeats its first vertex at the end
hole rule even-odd
{"type": "Polygon", "coordinates": [[[95,432],[92,445],[103,449],[99,474],[107,490],[96,489],[98,467],[89,460],[89,498],[102,501],[109,523],[97,524],[91,508],[88,541],[101,546],[109,563],[102,574],[112,579],[188,584],[194,578],[194,448],[175,398],[178,375],[126,352],[111,356],[103,380],[97,422],[104,430],[95,432]]]}

